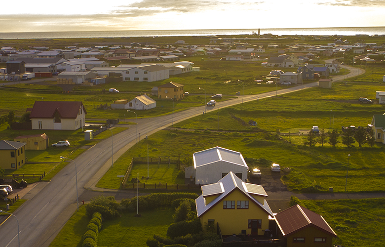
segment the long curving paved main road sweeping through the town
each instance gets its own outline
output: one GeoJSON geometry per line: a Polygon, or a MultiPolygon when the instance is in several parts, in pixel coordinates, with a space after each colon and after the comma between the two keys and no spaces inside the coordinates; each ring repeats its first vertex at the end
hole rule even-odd
{"type": "MultiPolygon", "coordinates": [[[[346,76],[356,76],[362,70],[352,68],[346,76]]],[[[334,81],[342,80],[339,76],[334,81]]],[[[245,95],[236,99],[219,102],[215,107],[207,107],[207,112],[215,111],[223,107],[240,104],[256,99],[263,99],[288,92],[303,90],[318,85],[313,82],[305,85],[288,87],[273,92],[258,95],[245,95]]],[[[183,112],[151,119],[138,119],[138,132],[143,137],[163,129],[172,122],[178,123],[185,119],[202,114],[204,106],[192,108],[183,112]]],[[[135,122],[133,120],[133,122],[135,122]]],[[[136,143],[136,127],[116,134],[114,140],[114,161],[126,150],[136,143]]],[[[85,188],[95,188],[96,182],[110,168],[111,165],[111,139],[106,139],[91,147],[75,159],[77,165],[77,178],[75,176],[75,164],[64,167],[51,182],[40,183],[25,199],[29,199],[15,211],[20,226],[21,247],[48,247],[61,227],[76,211],[76,187],[78,194],[83,195],[85,188]],[[77,186],[76,186],[77,180],[77,186]]],[[[107,192],[106,192],[107,193],[107,192]]],[[[111,191],[114,193],[114,191],[111,191]]],[[[120,195],[121,196],[121,195],[120,195]]],[[[129,196],[127,196],[129,197],[129,196]]],[[[16,222],[13,217],[0,226],[0,247],[18,246],[15,233],[16,222]]],[[[17,231],[16,231],[17,232],[17,231]]]]}

